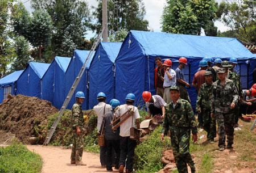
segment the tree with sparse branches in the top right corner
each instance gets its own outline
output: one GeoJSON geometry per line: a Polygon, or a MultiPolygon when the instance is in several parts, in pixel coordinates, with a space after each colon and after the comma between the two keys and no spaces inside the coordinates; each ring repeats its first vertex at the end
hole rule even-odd
{"type": "Polygon", "coordinates": [[[222,22],[234,32],[234,36],[246,42],[256,43],[256,3],[251,1],[222,1],[222,22]]]}

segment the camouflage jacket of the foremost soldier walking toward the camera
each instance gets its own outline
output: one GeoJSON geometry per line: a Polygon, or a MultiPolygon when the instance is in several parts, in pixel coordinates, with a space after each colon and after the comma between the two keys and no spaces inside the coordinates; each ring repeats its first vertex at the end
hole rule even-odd
{"type": "Polygon", "coordinates": [[[174,108],[174,102],[167,104],[166,113],[164,115],[162,133],[184,132],[184,130],[192,130],[193,134],[197,133],[196,119],[191,104],[184,99],[177,100],[174,108]]]}

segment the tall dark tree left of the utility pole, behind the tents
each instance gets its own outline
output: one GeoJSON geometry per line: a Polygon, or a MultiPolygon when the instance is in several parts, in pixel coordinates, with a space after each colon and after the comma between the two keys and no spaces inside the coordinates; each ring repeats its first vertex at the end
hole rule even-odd
{"type": "Polygon", "coordinates": [[[80,0],[32,0],[32,8],[47,11],[53,21],[49,52],[72,56],[74,49],[84,49],[86,31],[90,27],[88,4],[80,0]]]}

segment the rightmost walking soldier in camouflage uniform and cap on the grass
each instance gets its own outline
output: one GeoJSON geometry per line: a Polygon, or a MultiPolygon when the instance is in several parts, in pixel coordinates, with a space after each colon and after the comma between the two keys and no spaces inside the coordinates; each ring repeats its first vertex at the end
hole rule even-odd
{"type": "Polygon", "coordinates": [[[225,134],[227,135],[227,148],[232,148],[234,140],[234,112],[238,102],[238,92],[233,81],[226,78],[225,69],[218,70],[219,80],[213,83],[212,99],[210,102],[211,117],[216,117],[218,123],[218,146],[220,151],[225,150],[225,134]]]}

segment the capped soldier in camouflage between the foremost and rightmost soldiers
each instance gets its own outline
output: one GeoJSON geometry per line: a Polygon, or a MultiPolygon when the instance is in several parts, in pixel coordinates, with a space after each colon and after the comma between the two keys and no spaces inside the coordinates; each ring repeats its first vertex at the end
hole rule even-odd
{"type": "Polygon", "coordinates": [[[210,117],[210,96],[212,95],[212,72],[205,72],[205,83],[201,85],[196,101],[196,112],[203,117],[203,128],[207,131],[207,140],[214,142],[216,137],[216,120],[210,117]]]}

